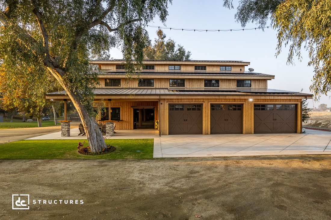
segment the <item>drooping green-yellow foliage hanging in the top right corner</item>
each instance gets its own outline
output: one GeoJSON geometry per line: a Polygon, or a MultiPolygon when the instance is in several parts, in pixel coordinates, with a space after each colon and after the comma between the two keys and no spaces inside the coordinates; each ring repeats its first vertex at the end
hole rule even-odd
{"type": "MultiPolygon", "coordinates": [[[[224,6],[232,8],[232,0],[224,0],[224,6]]],[[[289,45],[288,63],[292,63],[295,56],[301,59],[305,48],[315,72],[310,86],[315,99],[331,91],[331,1],[242,0],[235,18],[243,27],[249,22],[263,27],[271,18],[278,31],[277,55],[289,45]]]]}

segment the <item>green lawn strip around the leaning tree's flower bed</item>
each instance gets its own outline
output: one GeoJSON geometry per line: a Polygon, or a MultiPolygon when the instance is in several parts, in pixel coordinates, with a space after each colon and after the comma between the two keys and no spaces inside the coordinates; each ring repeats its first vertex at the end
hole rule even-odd
{"type": "Polygon", "coordinates": [[[106,144],[114,152],[87,156],[78,153],[78,142],[87,140],[22,140],[0,145],[0,159],[149,159],[153,158],[153,139],[112,139],[106,144]],[[140,152],[137,152],[140,151],[140,152]]]}

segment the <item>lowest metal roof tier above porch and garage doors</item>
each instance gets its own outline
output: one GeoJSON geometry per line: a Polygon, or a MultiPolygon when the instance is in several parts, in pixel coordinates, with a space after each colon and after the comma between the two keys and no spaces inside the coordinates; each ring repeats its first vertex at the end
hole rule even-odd
{"type": "MultiPolygon", "coordinates": [[[[275,90],[275,89],[180,89],[173,88],[171,90],[161,88],[153,89],[140,89],[140,88],[96,88],[94,89],[96,95],[240,95],[240,94],[261,94],[261,95],[301,95],[301,96],[312,96],[312,94],[300,93],[300,92],[291,92],[284,90],[275,90]]],[[[65,91],[61,92],[51,92],[47,95],[65,95],[65,91]]]]}

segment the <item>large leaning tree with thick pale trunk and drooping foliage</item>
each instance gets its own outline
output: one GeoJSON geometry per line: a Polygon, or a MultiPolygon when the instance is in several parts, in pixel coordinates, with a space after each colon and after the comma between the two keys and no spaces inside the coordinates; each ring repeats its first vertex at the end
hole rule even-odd
{"type": "Polygon", "coordinates": [[[97,73],[91,71],[88,57],[120,47],[127,77],[134,77],[143,66],[145,25],[156,15],[165,22],[167,4],[167,0],[0,0],[0,58],[7,72],[14,72],[20,63],[24,68],[47,69],[74,104],[91,151],[101,151],[106,144],[93,117],[97,73]]]}

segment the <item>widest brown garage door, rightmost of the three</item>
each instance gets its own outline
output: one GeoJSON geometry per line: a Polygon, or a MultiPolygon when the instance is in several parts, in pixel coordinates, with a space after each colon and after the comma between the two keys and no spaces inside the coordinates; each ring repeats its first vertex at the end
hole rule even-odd
{"type": "Polygon", "coordinates": [[[295,104],[254,105],[254,133],[296,133],[295,104]]]}

